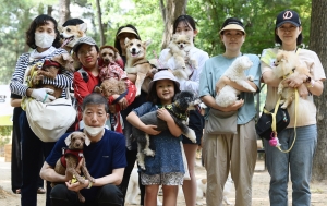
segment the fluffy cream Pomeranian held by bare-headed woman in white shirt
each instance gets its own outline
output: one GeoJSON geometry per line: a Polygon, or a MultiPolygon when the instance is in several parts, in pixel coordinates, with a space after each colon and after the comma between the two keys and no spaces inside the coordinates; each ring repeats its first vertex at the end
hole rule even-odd
{"type": "Polygon", "coordinates": [[[175,68],[173,69],[173,75],[178,80],[189,80],[193,70],[197,68],[197,62],[194,59],[190,59],[189,52],[194,47],[193,39],[187,35],[174,34],[168,45],[169,52],[166,61],[173,57],[175,68]],[[185,63],[185,61],[187,63],[185,63]],[[191,66],[191,68],[190,68],[191,66]]]}

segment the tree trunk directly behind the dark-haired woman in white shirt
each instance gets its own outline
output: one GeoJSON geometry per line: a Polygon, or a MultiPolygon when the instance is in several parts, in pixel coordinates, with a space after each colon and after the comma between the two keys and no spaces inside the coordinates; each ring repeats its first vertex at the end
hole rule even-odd
{"type": "Polygon", "coordinates": [[[164,8],[162,0],[160,1],[160,8],[162,10],[162,19],[165,23],[161,49],[167,48],[172,35],[173,21],[178,16],[185,14],[186,4],[187,4],[187,0],[167,0],[166,7],[164,8]]]}

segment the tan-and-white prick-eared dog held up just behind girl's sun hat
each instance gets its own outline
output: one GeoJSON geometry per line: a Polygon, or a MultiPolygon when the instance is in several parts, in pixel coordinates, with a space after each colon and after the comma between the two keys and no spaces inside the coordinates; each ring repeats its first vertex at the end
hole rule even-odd
{"type": "Polygon", "coordinates": [[[141,94],[141,89],[148,92],[148,84],[152,81],[146,77],[146,74],[152,71],[152,65],[146,59],[146,48],[150,44],[150,40],[141,41],[138,39],[125,39],[126,49],[126,65],[125,71],[128,74],[136,74],[136,96],[141,94]]]}

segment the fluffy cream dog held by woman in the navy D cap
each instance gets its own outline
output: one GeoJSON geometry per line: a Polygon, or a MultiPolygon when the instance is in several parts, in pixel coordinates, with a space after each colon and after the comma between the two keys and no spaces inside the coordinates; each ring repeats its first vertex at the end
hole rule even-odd
{"type": "Polygon", "coordinates": [[[281,95],[281,100],[283,102],[281,108],[286,109],[292,104],[293,99],[295,98],[295,90],[294,88],[286,86],[286,78],[296,78],[301,74],[305,74],[306,76],[312,75],[310,74],[306,66],[300,64],[299,57],[293,51],[279,50],[276,57],[275,65],[276,68],[275,70],[272,70],[274,74],[278,78],[283,78],[278,85],[277,94],[281,95]]]}

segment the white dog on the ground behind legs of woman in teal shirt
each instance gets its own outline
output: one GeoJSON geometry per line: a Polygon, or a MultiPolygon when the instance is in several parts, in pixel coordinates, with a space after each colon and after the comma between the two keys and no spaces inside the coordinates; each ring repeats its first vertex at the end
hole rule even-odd
{"type": "MultiPolygon", "coordinates": [[[[205,197],[206,193],[207,193],[207,179],[196,180],[196,184],[197,184],[196,205],[203,205],[201,203],[201,199],[203,199],[203,197],[205,197]]],[[[232,205],[232,203],[229,202],[229,199],[227,197],[227,195],[231,193],[232,185],[233,185],[233,180],[229,175],[226,183],[225,183],[225,186],[223,186],[223,202],[227,205],[232,205]]]]}

